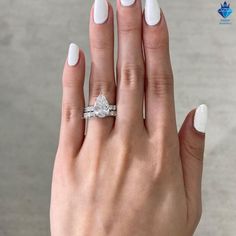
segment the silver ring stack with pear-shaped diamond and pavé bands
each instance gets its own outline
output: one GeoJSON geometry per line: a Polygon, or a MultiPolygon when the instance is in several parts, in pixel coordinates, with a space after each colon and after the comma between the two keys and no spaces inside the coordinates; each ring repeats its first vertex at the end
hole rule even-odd
{"type": "Polygon", "coordinates": [[[100,94],[95,101],[94,106],[88,106],[84,108],[84,119],[93,117],[105,118],[109,116],[116,116],[117,108],[116,105],[110,105],[106,97],[100,94]]]}

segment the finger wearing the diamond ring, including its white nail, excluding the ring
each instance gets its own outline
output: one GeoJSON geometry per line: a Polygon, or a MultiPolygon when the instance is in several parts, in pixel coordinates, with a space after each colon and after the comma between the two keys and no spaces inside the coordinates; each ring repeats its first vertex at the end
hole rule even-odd
{"type": "MultiPolygon", "coordinates": [[[[114,27],[113,10],[106,0],[95,0],[90,17],[91,75],[89,103],[94,105],[96,97],[103,94],[108,102],[115,103],[114,78],[114,27]]],[[[90,119],[88,132],[107,133],[114,118],[90,119]]]]}

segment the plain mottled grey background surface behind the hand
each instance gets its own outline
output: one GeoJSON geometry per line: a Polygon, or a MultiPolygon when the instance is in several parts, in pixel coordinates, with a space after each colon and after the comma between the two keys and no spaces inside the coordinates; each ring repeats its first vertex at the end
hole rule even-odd
{"type": "MultiPolygon", "coordinates": [[[[178,125],[198,104],[210,109],[196,235],[235,236],[236,12],[231,25],[220,25],[220,0],[160,1],[170,30],[178,125]]],[[[91,4],[0,0],[0,236],[49,235],[61,72],[71,41],[89,61],[91,4]]]]}

